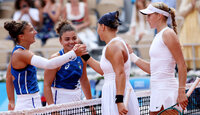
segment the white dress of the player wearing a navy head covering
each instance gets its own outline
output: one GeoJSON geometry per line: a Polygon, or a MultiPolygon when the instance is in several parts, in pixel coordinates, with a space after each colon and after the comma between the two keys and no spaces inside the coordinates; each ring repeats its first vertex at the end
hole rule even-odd
{"type": "MultiPolygon", "coordinates": [[[[115,72],[113,70],[112,64],[109,60],[105,57],[105,51],[107,46],[114,41],[120,41],[124,44],[126,47],[125,42],[120,38],[116,37],[113,38],[103,49],[102,57],[100,60],[100,67],[103,71],[104,76],[104,85],[102,88],[102,110],[103,114],[105,115],[118,115],[118,109],[117,104],[115,103],[115,95],[116,95],[116,83],[115,83],[115,72]]],[[[127,49],[127,48],[126,48],[127,49]]],[[[128,52],[128,50],[127,50],[128,52]]],[[[128,113],[127,115],[139,115],[139,106],[138,106],[138,100],[135,95],[135,92],[129,82],[129,76],[130,76],[130,56],[128,56],[128,60],[124,63],[124,71],[126,74],[126,84],[125,84],[125,91],[124,95],[127,93],[127,89],[131,88],[131,94],[128,101],[128,113]]]]}

